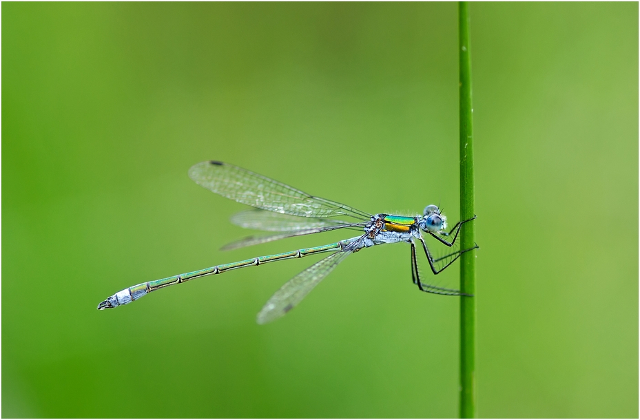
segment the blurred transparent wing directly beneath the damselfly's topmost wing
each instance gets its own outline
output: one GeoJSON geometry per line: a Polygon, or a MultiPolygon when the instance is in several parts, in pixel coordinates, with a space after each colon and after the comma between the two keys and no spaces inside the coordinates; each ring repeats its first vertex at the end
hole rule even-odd
{"type": "Polygon", "coordinates": [[[351,225],[335,219],[304,218],[283,213],[273,213],[260,209],[240,211],[231,216],[231,223],[245,229],[256,229],[269,232],[292,232],[318,229],[324,227],[351,225]]]}

